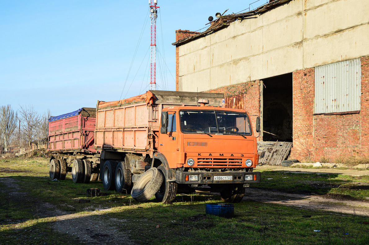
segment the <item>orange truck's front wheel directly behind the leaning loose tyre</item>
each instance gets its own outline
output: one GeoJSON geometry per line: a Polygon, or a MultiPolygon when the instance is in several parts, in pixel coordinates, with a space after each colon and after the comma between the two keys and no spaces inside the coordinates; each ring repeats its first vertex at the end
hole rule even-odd
{"type": "Polygon", "coordinates": [[[159,190],[155,193],[155,198],[163,203],[173,202],[176,199],[178,184],[176,182],[166,181],[168,177],[166,176],[165,167],[163,165],[160,165],[158,170],[164,178],[159,190]]]}

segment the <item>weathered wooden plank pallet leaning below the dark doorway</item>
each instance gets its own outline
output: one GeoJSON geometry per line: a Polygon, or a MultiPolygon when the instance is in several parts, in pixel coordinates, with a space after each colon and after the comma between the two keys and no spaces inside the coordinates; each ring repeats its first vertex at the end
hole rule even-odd
{"type": "Polygon", "coordinates": [[[282,165],[290,153],[292,142],[258,141],[260,165],[282,165]]]}

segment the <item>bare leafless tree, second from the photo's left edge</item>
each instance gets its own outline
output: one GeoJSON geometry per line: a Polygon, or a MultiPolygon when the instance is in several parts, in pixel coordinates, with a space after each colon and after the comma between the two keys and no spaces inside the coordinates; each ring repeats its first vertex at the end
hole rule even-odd
{"type": "Polygon", "coordinates": [[[36,140],[37,131],[40,123],[40,115],[33,105],[20,106],[21,131],[27,139],[28,146],[32,147],[32,141],[36,140]]]}

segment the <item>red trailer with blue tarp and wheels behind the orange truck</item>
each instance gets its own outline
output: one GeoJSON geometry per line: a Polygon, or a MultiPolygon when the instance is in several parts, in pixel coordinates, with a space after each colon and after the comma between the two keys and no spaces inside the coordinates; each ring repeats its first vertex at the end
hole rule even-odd
{"type": "Polygon", "coordinates": [[[73,174],[74,165],[84,165],[84,169],[99,167],[99,157],[94,148],[94,130],[96,125],[96,109],[80,108],[60,116],[49,119],[49,151],[52,153],[50,161],[50,178],[65,179],[67,172],[72,172],[74,182],[96,181],[98,171],[78,177],[73,174]]]}

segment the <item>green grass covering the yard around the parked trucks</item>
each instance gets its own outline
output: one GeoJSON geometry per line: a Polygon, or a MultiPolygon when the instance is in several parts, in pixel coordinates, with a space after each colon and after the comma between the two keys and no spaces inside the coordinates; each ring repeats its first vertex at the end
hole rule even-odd
{"type": "MultiPolygon", "coordinates": [[[[51,203],[51,209],[98,217],[104,223],[119,220],[115,229],[128,234],[137,244],[356,245],[368,244],[369,241],[369,225],[363,224],[363,221],[369,221],[367,217],[241,202],[235,204],[234,218],[222,218],[205,214],[205,204],[220,202],[217,195],[177,195],[172,205],[158,203],[154,198],[152,202],[138,203],[130,195],[104,191],[101,182],[74,184],[70,175],[65,181],[50,181],[47,163],[47,160],[39,158],[24,162],[0,160],[0,168],[29,171],[0,172],[0,178],[14,179],[28,197],[25,205],[8,198],[6,192],[0,192],[0,244],[79,244],[78,239],[69,234],[52,230],[55,218],[39,217],[35,209],[39,200],[51,203]],[[89,198],[79,195],[85,194],[88,188],[100,188],[104,195],[89,198]],[[90,202],[79,203],[78,199],[89,199],[90,202]],[[306,215],[311,217],[304,218],[306,215]]],[[[369,181],[368,176],[279,171],[263,171],[262,178],[262,183],[253,187],[319,194],[338,193],[340,190],[341,195],[356,196],[366,195],[368,190],[359,186],[369,181]]],[[[3,189],[4,185],[1,184],[0,188],[3,189]]],[[[42,211],[48,213],[48,210],[42,211]]]]}

